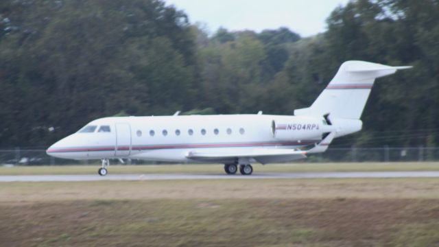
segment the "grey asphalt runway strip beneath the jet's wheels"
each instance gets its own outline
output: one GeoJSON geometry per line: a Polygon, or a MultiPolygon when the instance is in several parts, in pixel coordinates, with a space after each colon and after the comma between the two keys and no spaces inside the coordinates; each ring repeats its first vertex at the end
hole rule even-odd
{"type": "MultiPolygon", "coordinates": [[[[111,172],[111,171],[110,171],[111,172]]],[[[1,182],[80,182],[103,180],[215,180],[215,179],[300,179],[300,178],[439,178],[439,172],[294,172],[254,173],[250,176],[226,174],[108,174],[0,176],[1,182]]]]}

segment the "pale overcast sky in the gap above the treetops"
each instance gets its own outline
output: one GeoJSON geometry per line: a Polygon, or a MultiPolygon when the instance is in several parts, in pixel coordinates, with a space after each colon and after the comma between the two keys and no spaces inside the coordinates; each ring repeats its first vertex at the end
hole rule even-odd
{"type": "Polygon", "coordinates": [[[189,15],[191,23],[202,22],[215,32],[289,27],[306,37],[326,29],[325,19],[338,5],[349,0],[165,0],[189,15]]]}

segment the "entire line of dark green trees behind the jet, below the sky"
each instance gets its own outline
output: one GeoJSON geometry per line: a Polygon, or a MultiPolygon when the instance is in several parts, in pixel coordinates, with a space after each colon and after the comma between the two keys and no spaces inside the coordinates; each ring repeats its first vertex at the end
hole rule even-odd
{"type": "Polygon", "coordinates": [[[1,1],[0,147],[46,147],[112,115],[292,115],[346,60],[414,69],[379,79],[364,130],[335,146],[435,146],[439,1],[351,1],[327,27],[209,34],[162,0],[1,1]]]}

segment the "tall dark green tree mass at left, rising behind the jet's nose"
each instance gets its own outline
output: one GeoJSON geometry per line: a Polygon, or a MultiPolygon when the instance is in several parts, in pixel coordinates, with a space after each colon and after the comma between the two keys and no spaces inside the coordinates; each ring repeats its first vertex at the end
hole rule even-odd
{"type": "Polygon", "coordinates": [[[0,34],[0,145],[47,145],[123,110],[193,108],[193,33],[163,1],[2,1],[0,14],[14,27],[0,34]]]}

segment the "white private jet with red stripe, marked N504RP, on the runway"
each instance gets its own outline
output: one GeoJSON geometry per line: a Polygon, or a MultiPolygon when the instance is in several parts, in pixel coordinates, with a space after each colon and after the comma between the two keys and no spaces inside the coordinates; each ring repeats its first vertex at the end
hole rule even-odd
{"type": "Polygon", "coordinates": [[[361,130],[361,113],[375,78],[398,69],[344,62],[309,108],[282,115],[190,115],[106,117],[58,141],[47,154],[58,158],[224,163],[227,174],[250,175],[250,163],[294,161],[324,152],[336,137],[361,130]],[[310,148],[307,148],[310,147],[310,148]]]}

